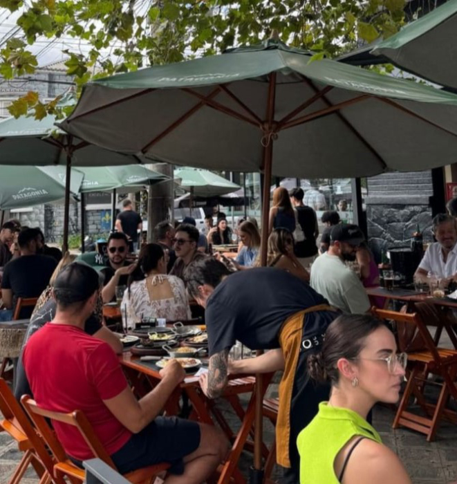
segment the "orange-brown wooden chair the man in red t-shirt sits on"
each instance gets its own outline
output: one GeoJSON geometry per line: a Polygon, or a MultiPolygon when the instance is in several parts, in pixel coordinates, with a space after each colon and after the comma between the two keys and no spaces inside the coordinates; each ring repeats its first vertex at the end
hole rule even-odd
{"type": "MultiPolygon", "coordinates": [[[[104,463],[113,467],[113,469],[118,470],[116,469],[113,460],[100,443],[100,440],[95,435],[90,422],[82,411],[75,410],[71,413],[59,413],[41,409],[41,407],[38,407],[35,400],[32,400],[28,395],[23,395],[21,402],[56,460],[54,465],[54,476],[57,478],[68,478],[71,483],[75,484],[82,483],[85,479],[84,470],[75,465],[65,454],[64,448],[61,443],[59,443],[59,440],[57,440],[57,437],[55,436],[54,431],[50,428],[46,418],[76,427],[94,456],[103,460],[104,463]]],[[[124,478],[133,484],[153,483],[156,476],[168,468],[169,465],[165,463],[150,465],[129,472],[128,474],[124,474],[124,478]]]]}

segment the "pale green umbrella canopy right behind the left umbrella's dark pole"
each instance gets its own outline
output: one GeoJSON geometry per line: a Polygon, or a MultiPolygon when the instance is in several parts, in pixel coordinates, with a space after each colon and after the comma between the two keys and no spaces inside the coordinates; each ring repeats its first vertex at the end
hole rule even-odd
{"type": "Polygon", "coordinates": [[[169,177],[142,165],[120,167],[80,167],[84,178],[81,193],[104,192],[122,187],[154,185],[169,177]]]}

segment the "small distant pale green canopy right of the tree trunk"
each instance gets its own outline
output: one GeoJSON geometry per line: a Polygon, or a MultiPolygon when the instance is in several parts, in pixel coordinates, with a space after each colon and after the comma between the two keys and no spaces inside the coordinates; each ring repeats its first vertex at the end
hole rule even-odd
{"type": "Polygon", "coordinates": [[[186,192],[192,189],[196,197],[225,195],[240,188],[236,183],[205,169],[187,167],[175,169],[174,178],[180,178],[180,187],[186,192]]]}

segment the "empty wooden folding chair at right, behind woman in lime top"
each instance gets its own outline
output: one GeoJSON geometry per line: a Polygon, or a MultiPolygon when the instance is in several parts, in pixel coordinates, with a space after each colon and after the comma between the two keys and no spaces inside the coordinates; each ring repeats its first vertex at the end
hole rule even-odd
{"type": "Polygon", "coordinates": [[[375,316],[386,319],[386,321],[411,324],[418,328],[418,332],[424,342],[424,348],[408,353],[408,382],[393,420],[393,428],[396,429],[402,425],[403,427],[414,429],[425,434],[427,441],[431,442],[436,436],[442,417],[457,423],[457,413],[447,408],[447,402],[450,397],[457,402],[457,351],[437,348],[427,326],[417,313],[397,313],[377,308],[373,308],[372,311],[375,316]],[[438,375],[443,380],[442,384],[428,380],[429,374],[438,375]],[[436,403],[427,401],[427,396],[425,395],[425,386],[427,384],[441,386],[436,403]],[[407,411],[411,395],[416,397],[426,417],[407,411]]]}

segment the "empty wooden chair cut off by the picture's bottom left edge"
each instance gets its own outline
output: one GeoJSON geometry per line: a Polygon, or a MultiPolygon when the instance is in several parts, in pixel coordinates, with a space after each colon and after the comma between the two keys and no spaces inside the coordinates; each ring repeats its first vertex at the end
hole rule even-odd
{"type": "MultiPolygon", "coordinates": [[[[50,483],[52,474],[48,474],[47,469],[52,473],[52,459],[3,378],[0,378],[0,411],[3,415],[3,419],[0,420],[0,430],[6,431],[16,440],[18,449],[24,452],[9,484],[18,484],[29,465],[32,465],[37,472],[40,478],[39,484],[50,483]]],[[[64,482],[59,481],[56,484],[64,484],[64,482]]]]}

